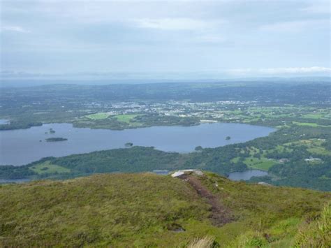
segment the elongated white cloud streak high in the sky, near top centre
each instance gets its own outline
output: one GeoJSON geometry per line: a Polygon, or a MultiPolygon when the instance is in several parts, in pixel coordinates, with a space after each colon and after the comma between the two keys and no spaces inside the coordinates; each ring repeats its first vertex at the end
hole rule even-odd
{"type": "Polygon", "coordinates": [[[198,20],[191,18],[161,18],[161,19],[136,19],[135,24],[145,29],[160,30],[197,30],[214,28],[217,24],[223,23],[221,20],[198,20]]]}

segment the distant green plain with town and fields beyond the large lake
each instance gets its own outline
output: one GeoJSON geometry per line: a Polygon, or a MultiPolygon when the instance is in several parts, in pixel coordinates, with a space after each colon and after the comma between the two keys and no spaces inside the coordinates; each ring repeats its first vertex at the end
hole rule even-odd
{"type": "Polygon", "coordinates": [[[0,130],[69,122],[94,129],[193,125],[201,119],[331,126],[330,82],[48,85],[5,88],[0,130]],[[40,94],[40,92],[47,94],[40,94]],[[311,92],[314,91],[314,94],[311,92]]]}

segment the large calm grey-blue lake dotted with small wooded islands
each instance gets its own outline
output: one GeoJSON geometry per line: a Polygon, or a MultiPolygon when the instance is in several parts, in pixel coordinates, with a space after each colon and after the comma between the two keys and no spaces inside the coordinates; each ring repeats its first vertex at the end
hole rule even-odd
{"type": "Polygon", "coordinates": [[[198,145],[219,147],[267,136],[274,129],[247,124],[214,123],[199,126],[153,126],[113,131],[78,129],[72,124],[44,124],[31,129],[0,131],[0,165],[20,166],[45,156],[66,156],[133,145],[153,146],[166,152],[191,152],[198,145]],[[47,133],[53,129],[56,133],[47,133]],[[230,136],[230,140],[226,140],[230,136]],[[61,137],[66,141],[45,142],[61,137]],[[42,140],[40,142],[40,140],[42,140]]]}

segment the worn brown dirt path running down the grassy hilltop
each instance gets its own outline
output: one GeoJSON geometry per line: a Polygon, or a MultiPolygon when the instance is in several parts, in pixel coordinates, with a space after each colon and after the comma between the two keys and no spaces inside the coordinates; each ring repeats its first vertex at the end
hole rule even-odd
{"type": "Polygon", "coordinates": [[[211,216],[210,219],[214,226],[223,226],[231,221],[233,221],[233,217],[231,217],[230,211],[224,207],[219,200],[214,196],[203,184],[201,184],[200,180],[197,177],[193,177],[191,175],[182,175],[180,177],[182,180],[191,184],[193,189],[195,189],[199,196],[205,198],[207,203],[211,205],[211,216]]]}

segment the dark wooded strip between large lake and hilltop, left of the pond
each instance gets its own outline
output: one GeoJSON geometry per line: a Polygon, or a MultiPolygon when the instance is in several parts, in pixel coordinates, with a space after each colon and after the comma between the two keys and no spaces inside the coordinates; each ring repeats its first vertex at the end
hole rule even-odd
{"type": "MultiPolygon", "coordinates": [[[[30,168],[39,164],[48,163],[62,166],[71,170],[70,173],[31,175],[29,170],[28,177],[43,178],[52,177],[64,179],[90,175],[91,173],[118,173],[118,172],[147,172],[152,170],[177,170],[184,168],[204,168],[217,170],[223,175],[228,175],[231,171],[246,168],[244,163],[228,163],[229,159],[236,156],[234,146],[221,147],[224,152],[219,156],[219,149],[203,149],[200,152],[191,154],[179,154],[177,152],[162,152],[153,147],[134,146],[130,149],[110,149],[88,154],[74,154],[59,158],[47,157],[40,161],[29,163],[21,168],[30,168]]],[[[10,173],[16,170],[15,166],[0,166],[0,178],[6,179],[9,175],[16,175],[17,178],[26,177],[27,170],[20,170],[21,173],[10,173]]]]}

